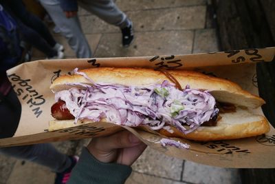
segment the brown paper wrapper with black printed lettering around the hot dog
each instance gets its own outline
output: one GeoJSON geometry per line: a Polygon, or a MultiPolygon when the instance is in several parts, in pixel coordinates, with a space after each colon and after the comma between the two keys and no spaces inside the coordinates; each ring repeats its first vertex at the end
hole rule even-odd
{"type": "MultiPolygon", "coordinates": [[[[48,123],[53,119],[50,108],[54,103],[54,94],[50,91],[50,85],[58,76],[68,74],[74,68],[146,67],[195,70],[229,79],[252,94],[258,94],[255,63],[274,61],[274,55],[275,48],[263,48],[207,54],[41,60],[23,63],[7,72],[22,104],[21,121],[12,138],[0,139],[0,147],[106,136],[125,128],[149,147],[179,159],[218,167],[275,167],[275,130],[272,125],[267,134],[248,139],[211,142],[175,139],[188,143],[188,150],[163,147],[159,143],[162,137],[158,134],[111,123],[89,123],[47,132],[48,123]]],[[[263,114],[261,108],[255,112],[263,114]]]]}

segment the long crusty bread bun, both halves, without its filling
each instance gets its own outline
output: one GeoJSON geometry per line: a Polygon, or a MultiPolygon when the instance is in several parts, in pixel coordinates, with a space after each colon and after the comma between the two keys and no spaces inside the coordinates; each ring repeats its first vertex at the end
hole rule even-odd
{"type": "MultiPolygon", "coordinates": [[[[87,76],[96,83],[142,86],[162,83],[164,80],[169,80],[162,72],[145,68],[90,68],[81,70],[81,72],[85,72],[87,76]]],[[[160,130],[159,132],[161,134],[198,141],[211,141],[239,139],[264,134],[269,131],[269,124],[265,117],[250,112],[250,108],[257,108],[265,103],[259,96],[254,96],[242,90],[239,85],[231,81],[206,76],[198,72],[172,70],[169,71],[169,73],[177,79],[183,88],[186,85],[190,85],[190,88],[209,90],[217,101],[232,103],[237,106],[237,109],[236,112],[220,114],[222,118],[217,122],[217,126],[214,127],[199,127],[189,134],[183,134],[173,128],[174,132],[172,134],[166,130],[160,130]]],[[[69,83],[91,84],[85,77],[75,74],[72,76],[66,75],[59,77],[50,88],[54,92],[67,90],[72,87],[68,85],[69,83]]],[[[74,87],[76,86],[74,85],[74,87]]],[[[74,120],[54,120],[50,122],[50,130],[58,130],[91,122],[92,121],[82,120],[75,124],[74,120]]]]}

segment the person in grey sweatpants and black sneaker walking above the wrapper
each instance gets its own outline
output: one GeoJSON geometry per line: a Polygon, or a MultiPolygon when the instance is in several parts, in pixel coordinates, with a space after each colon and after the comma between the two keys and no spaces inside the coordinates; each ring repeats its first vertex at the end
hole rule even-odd
{"type": "Polygon", "coordinates": [[[83,34],[78,19],[78,4],[85,10],[95,14],[100,19],[116,25],[122,31],[122,45],[127,47],[133,41],[133,25],[124,12],[115,6],[111,0],[39,0],[47,10],[52,21],[67,39],[78,58],[93,57],[89,43],[83,34]]]}

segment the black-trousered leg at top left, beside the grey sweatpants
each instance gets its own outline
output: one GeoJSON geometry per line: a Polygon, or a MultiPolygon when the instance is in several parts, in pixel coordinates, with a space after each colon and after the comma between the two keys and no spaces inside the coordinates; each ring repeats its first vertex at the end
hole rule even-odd
{"type": "Polygon", "coordinates": [[[22,0],[9,0],[6,3],[9,5],[9,8],[12,10],[14,15],[17,16],[22,23],[39,33],[41,37],[47,41],[50,47],[53,48],[54,45],[56,45],[56,41],[52,37],[47,26],[43,21],[41,21],[41,19],[39,19],[39,17],[36,17],[36,15],[26,10],[22,0]]]}

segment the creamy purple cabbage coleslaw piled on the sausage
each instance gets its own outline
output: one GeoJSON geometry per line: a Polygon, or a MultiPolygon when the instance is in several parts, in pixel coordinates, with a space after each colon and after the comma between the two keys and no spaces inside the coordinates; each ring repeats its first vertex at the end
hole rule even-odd
{"type": "Polygon", "coordinates": [[[168,81],[143,87],[109,85],[94,83],[85,73],[77,74],[82,74],[94,85],[77,83],[75,85],[83,85],[85,90],[71,88],[56,92],[56,101],[65,101],[75,121],[106,118],[118,125],[148,125],[152,130],[170,124],[187,134],[203,122],[217,118],[219,112],[211,94],[189,86],[181,91],[168,81]]]}

